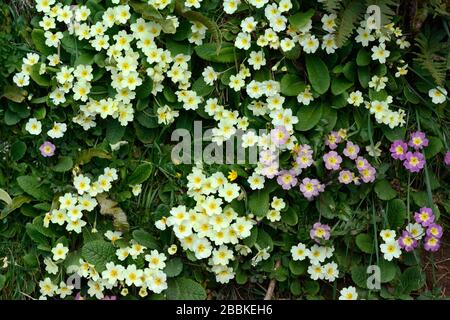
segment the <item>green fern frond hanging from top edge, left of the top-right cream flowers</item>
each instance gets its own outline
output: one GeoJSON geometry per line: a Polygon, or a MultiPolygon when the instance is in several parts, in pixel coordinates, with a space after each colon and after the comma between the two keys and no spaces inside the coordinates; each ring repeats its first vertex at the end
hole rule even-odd
{"type": "Polygon", "coordinates": [[[342,7],[338,16],[336,28],[336,45],[341,47],[347,42],[356,28],[356,23],[359,21],[364,12],[364,2],[360,0],[352,0],[347,2],[345,7],[342,7]]]}

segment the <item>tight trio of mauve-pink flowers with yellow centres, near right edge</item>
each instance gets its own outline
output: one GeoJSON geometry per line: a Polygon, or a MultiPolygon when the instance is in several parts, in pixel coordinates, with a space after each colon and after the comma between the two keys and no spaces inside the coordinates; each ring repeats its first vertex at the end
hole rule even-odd
{"type": "Polygon", "coordinates": [[[403,161],[403,166],[410,172],[419,172],[425,166],[425,157],[420,150],[426,146],[428,146],[428,139],[425,133],[416,131],[411,133],[408,143],[395,140],[389,151],[392,158],[403,161]],[[409,151],[408,146],[413,148],[413,151],[409,151]]]}

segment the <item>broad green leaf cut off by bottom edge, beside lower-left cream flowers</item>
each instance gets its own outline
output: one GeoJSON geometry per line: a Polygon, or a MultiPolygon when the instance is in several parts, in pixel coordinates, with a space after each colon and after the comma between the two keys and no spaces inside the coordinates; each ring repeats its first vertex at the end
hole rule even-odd
{"type": "Polygon", "coordinates": [[[166,296],[169,300],[205,300],[206,291],[194,280],[173,278],[168,281],[166,296]]]}

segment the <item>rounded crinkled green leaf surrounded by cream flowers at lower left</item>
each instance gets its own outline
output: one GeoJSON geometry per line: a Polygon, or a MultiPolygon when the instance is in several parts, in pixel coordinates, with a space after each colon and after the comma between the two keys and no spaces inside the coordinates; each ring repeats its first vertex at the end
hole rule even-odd
{"type": "Polygon", "coordinates": [[[108,262],[116,260],[116,249],[110,242],[94,240],[83,246],[81,256],[93,264],[98,272],[102,272],[108,262]]]}

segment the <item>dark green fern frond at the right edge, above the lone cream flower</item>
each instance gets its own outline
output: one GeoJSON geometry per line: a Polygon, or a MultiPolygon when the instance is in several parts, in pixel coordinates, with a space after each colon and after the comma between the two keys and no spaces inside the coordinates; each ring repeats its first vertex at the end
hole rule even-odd
{"type": "Polygon", "coordinates": [[[439,38],[427,37],[421,33],[416,38],[416,45],[420,52],[415,53],[414,59],[424,70],[426,70],[438,85],[443,85],[447,74],[447,61],[439,55],[448,48],[448,44],[439,42],[439,38]]]}

